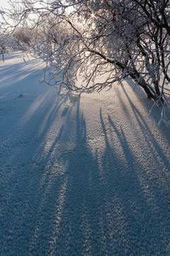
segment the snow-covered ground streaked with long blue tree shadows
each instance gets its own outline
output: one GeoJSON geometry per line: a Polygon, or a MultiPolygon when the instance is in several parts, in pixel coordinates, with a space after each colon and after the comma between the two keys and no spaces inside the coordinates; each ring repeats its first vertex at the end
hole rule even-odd
{"type": "Polygon", "coordinates": [[[152,102],[132,82],[57,99],[26,62],[0,62],[0,255],[169,256],[170,129],[152,102]]]}

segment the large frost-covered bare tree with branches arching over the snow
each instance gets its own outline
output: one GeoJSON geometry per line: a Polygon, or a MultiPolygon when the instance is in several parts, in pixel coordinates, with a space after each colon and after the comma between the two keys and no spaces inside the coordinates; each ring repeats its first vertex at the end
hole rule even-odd
{"type": "Polygon", "coordinates": [[[23,0],[11,7],[4,14],[13,19],[10,28],[27,23],[35,31],[33,50],[52,67],[58,88],[94,92],[129,77],[162,105],[166,122],[169,0],[23,0]],[[106,79],[96,82],[103,74],[106,79]]]}

